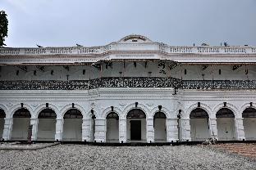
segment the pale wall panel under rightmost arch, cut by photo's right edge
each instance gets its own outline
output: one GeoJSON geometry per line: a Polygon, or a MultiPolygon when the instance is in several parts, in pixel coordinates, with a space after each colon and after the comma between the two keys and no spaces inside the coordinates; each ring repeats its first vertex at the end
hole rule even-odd
{"type": "Polygon", "coordinates": [[[256,118],[244,118],[245,139],[256,140],[256,118]]]}

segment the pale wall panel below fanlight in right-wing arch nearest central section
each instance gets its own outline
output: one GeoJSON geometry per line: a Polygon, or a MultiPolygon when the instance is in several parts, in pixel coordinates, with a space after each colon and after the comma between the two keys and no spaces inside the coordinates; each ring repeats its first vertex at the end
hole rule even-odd
{"type": "Polygon", "coordinates": [[[190,119],[191,141],[205,141],[210,137],[208,119],[190,119]]]}

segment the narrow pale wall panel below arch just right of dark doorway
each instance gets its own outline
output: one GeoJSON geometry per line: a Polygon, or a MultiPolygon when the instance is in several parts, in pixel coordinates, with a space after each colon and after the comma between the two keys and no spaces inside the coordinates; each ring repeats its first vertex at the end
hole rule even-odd
{"type": "Polygon", "coordinates": [[[154,119],[154,140],[167,141],[166,119],[154,119]]]}

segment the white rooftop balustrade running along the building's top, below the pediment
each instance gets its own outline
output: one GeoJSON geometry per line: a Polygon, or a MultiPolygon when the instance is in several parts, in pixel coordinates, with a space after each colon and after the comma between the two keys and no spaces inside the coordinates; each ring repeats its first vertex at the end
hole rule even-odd
{"type": "Polygon", "coordinates": [[[86,55],[103,54],[107,51],[149,50],[166,53],[198,53],[198,54],[256,54],[256,47],[171,47],[158,42],[147,43],[111,43],[100,47],[38,47],[38,48],[0,48],[0,56],[4,55],[86,55]]]}

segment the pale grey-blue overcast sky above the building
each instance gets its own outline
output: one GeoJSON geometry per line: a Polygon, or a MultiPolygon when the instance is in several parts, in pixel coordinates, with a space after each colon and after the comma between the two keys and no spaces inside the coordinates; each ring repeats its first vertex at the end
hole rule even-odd
{"type": "Polygon", "coordinates": [[[7,47],[100,46],[142,34],[173,46],[256,46],[256,0],[0,0],[7,47]]]}

